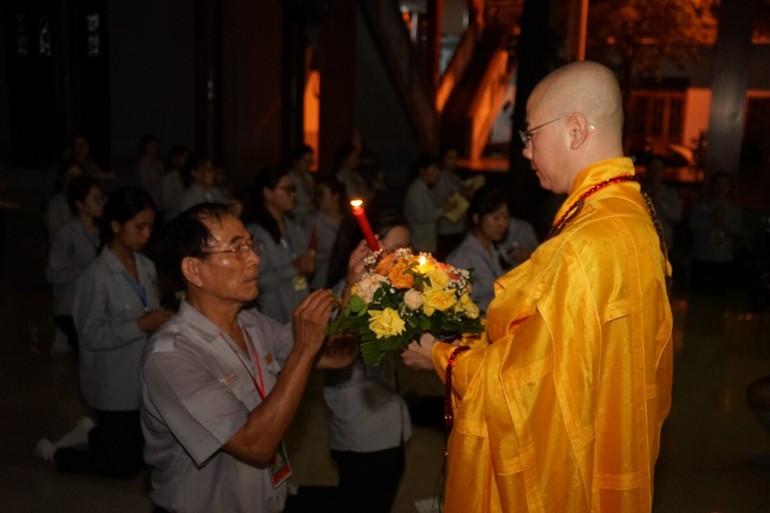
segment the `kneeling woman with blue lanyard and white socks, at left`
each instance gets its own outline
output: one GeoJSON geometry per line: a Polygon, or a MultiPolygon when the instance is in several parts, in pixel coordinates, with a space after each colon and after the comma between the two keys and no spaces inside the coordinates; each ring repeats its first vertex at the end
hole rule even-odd
{"type": "Polygon", "coordinates": [[[104,248],[75,285],[72,317],[80,342],[80,386],[96,410],[88,449],[61,448],[59,470],[133,478],[143,468],[139,360],[147,339],[171,317],[160,308],[155,265],[139,253],[152,234],[149,194],[125,187],[110,196],[104,248]]]}

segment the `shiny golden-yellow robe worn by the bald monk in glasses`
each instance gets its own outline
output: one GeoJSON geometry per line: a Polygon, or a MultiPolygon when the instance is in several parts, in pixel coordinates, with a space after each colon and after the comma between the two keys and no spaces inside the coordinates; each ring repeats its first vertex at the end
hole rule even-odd
{"type": "MultiPolygon", "coordinates": [[[[556,215],[629,159],[583,170],[556,215]]],[[[671,406],[670,271],[639,185],[586,199],[495,283],[480,344],[453,369],[446,513],[649,512],[671,406]]],[[[454,348],[438,343],[444,376],[454,348]]]]}

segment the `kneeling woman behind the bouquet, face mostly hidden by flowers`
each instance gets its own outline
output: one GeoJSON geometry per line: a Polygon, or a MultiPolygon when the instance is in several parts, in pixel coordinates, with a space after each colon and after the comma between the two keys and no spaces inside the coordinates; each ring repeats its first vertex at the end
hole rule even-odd
{"type": "MultiPolygon", "coordinates": [[[[387,251],[409,245],[406,220],[393,211],[370,212],[372,228],[387,251]]],[[[332,250],[329,280],[339,281],[342,297],[360,274],[342,274],[339,262],[347,261],[363,234],[354,219],[346,218],[332,250]],[[339,270],[338,270],[339,269],[339,270]]],[[[356,339],[357,340],[357,339],[356,339]]],[[[329,372],[324,399],[331,410],[329,446],[339,472],[341,513],[388,513],[404,474],[404,443],[412,436],[406,402],[398,390],[393,358],[380,366],[356,358],[346,369],[329,372]]]]}

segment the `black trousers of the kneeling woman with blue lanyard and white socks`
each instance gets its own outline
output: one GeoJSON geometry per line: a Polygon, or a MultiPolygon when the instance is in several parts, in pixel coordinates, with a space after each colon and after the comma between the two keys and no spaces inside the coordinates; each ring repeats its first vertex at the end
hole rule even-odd
{"type": "Polygon", "coordinates": [[[143,448],[139,410],[96,410],[88,448],[62,447],[54,462],[61,472],[133,479],[144,468],[143,448]]]}

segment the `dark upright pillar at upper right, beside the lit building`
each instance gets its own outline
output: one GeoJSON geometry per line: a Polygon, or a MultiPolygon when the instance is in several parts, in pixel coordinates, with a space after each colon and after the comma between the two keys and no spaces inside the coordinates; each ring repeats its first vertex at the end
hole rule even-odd
{"type": "Polygon", "coordinates": [[[756,0],[719,6],[714,82],[711,88],[706,176],[737,173],[746,117],[746,83],[756,0]]]}

